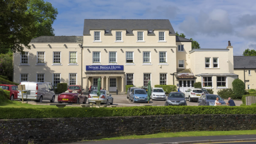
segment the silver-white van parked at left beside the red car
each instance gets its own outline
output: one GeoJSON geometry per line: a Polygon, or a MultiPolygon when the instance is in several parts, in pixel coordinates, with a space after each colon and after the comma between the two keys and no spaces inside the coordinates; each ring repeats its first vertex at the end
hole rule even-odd
{"type": "MultiPolygon", "coordinates": [[[[25,85],[26,88],[23,90],[24,100],[34,100],[40,103],[43,100],[53,103],[55,100],[55,92],[51,83],[23,81],[20,85],[25,85]]],[[[21,90],[18,92],[18,99],[22,99],[21,90]]]]}

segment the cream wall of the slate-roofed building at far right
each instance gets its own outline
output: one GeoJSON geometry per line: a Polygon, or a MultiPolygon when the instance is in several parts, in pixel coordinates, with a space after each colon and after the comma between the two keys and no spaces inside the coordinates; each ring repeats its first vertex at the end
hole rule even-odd
{"type": "MultiPolygon", "coordinates": [[[[249,82],[245,83],[245,89],[248,89],[248,85],[250,85],[250,89],[256,89],[256,69],[250,69],[251,75],[249,75],[248,70],[245,69],[245,80],[249,80],[249,82]]],[[[244,82],[244,69],[234,69],[234,73],[239,75],[239,79],[244,82]]]]}

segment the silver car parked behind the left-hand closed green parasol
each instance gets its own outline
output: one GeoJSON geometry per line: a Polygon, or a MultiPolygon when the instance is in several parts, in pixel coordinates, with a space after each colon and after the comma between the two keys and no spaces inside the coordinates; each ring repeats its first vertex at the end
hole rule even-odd
{"type": "Polygon", "coordinates": [[[113,104],[113,97],[111,97],[111,94],[107,90],[100,90],[100,96],[97,95],[98,90],[93,90],[89,95],[88,95],[88,104],[90,103],[96,103],[95,100],[102,100],[101,103],[103,104],[113,104]]]}

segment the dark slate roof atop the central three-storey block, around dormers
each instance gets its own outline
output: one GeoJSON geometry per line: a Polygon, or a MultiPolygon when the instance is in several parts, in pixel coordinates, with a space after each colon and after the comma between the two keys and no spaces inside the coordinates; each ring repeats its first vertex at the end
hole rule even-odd
{"type": "Polygon", "coordinates": [[[126,35],[133,35],[133,29],[148,29],[148,35],[154,35],[150,30],[169,29],[169,35],[175,35],[169,20],[85,19],[83,34],[90,35],[90,29],[105,29],[105,35],[111,35],[111,29],[126,29],[126,35]]]}

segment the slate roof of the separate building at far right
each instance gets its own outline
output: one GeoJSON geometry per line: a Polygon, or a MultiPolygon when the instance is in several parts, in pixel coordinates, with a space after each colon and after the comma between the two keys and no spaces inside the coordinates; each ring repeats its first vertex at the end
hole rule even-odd
{"type": "Polygon", "coordinates": [[[256,69],[256,56],[234,56],[234,69],[256,69]]]}

